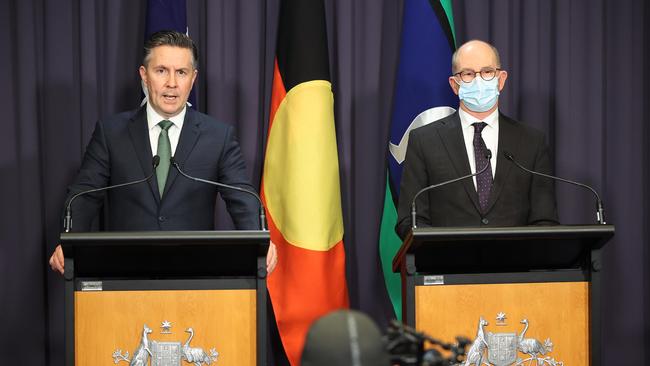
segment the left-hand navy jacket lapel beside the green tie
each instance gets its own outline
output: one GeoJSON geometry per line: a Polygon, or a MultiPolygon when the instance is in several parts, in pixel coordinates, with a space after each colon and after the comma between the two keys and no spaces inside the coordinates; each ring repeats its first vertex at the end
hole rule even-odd
{"type": "MultiPolygon", "coordinates": [[[[142,172],[144,176],[147,176],[151,173],[151,160],[153,159],[153,156],[151,155],[151,142],[149,140],[146,107],[140,108],[133,117],[131,117],[128,129],[129,137],[133,143],[133,148],[135,149],[135,153],[140,161],[140,166],[142,167],[142,172]]],[[[155,174],[151,179],[149,179],[148,184],[156,203],[159,203],[160,195],[158,193],[158,181],[156,180],[155,174]]]]}

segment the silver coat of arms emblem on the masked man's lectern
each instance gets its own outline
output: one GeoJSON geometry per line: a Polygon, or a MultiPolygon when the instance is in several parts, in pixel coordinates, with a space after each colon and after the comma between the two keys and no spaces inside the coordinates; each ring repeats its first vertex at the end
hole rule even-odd
{"type": "MultiPolygon", "coordinates": [[[[503,322],[504,319],[505,314],[500,313],[497,316],[497,323],[503,322]]],[[[519,334],[486,333],[484,327],[488,322],[481,317],[476,338],[467,351],[463,366],[564,365],[549,355],[553,352],[553,342],[550,338],[546,338],[544,343],[535,338],[526,338],[528,319],[522,319],[521,324],[524,328],[519,334]],[[520,357],[519,354],[523,354],[524,357],[520,357]]]]}

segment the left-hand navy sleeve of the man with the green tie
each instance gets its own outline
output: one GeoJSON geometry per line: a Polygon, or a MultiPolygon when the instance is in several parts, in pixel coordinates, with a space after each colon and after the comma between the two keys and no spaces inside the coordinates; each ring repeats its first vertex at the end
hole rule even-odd
{"type": "MultiPolygon", "coordinates": [[[[95,125],[92,138],[86,147],[86,152],[74,182],[68,187],[65,200],[67,206],[75,194],[105,187],[110,179],[110,159],[108,146],[104,136],[101,121],[95,125]]],[[[72,231],[90,231],[93,220],[98,216],[104,203],[104,192],[89,193],[77,197],[71,205],[72,231]]],[[[66,207],[63,208],[65,217],[66,207]]]]}

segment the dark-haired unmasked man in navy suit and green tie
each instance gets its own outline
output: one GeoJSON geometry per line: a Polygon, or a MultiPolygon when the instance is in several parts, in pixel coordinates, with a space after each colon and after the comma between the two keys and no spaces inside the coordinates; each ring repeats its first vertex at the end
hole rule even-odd
{"type": "MultiPolygon", "coordinates": [[[[68,199],[88,189],[148,176],[155,155],[160,164],[147,183],[79,196],[72,204],[75,231],[91,229],[105,196],[108,230],[212,230],[217,193],[237,229],[260,229],[254,197],[189,180],[170,164],[173,156],[191,176],[253,190],[233,127],[186,106],[198,73],[197,60],[194,42],[182,33],[162,31],[147,40],[139,70],[147,87],[146,106],[97,122],[68,199]]],[[[276,260],[271,244],[269,272],[276,260]]],[[[50,265],[63,273],[61,246],[50,265]]]]}

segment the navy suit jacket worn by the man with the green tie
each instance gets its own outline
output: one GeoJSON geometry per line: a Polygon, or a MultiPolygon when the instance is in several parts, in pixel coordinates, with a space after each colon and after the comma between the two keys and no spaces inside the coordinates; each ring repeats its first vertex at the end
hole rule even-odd
{"type": "MultiPolygon", "coordinates": [[[[146,107],[100,120],[68,198],[83,190],[142,179],[151,173],[152,159],[146,107]]],[[[174,159],[191,176],[254,190],[234,128],[193,109],[187,109],[174,159]]],[[[238,229],[259,229],[255,198],[191,181],[173,166],[162,199],[155,175],[149,182],[78,197],[72,204],[72,229],[89,231],[107,202],[107,230],[213,230],[217,193],[238,229]]]]}

